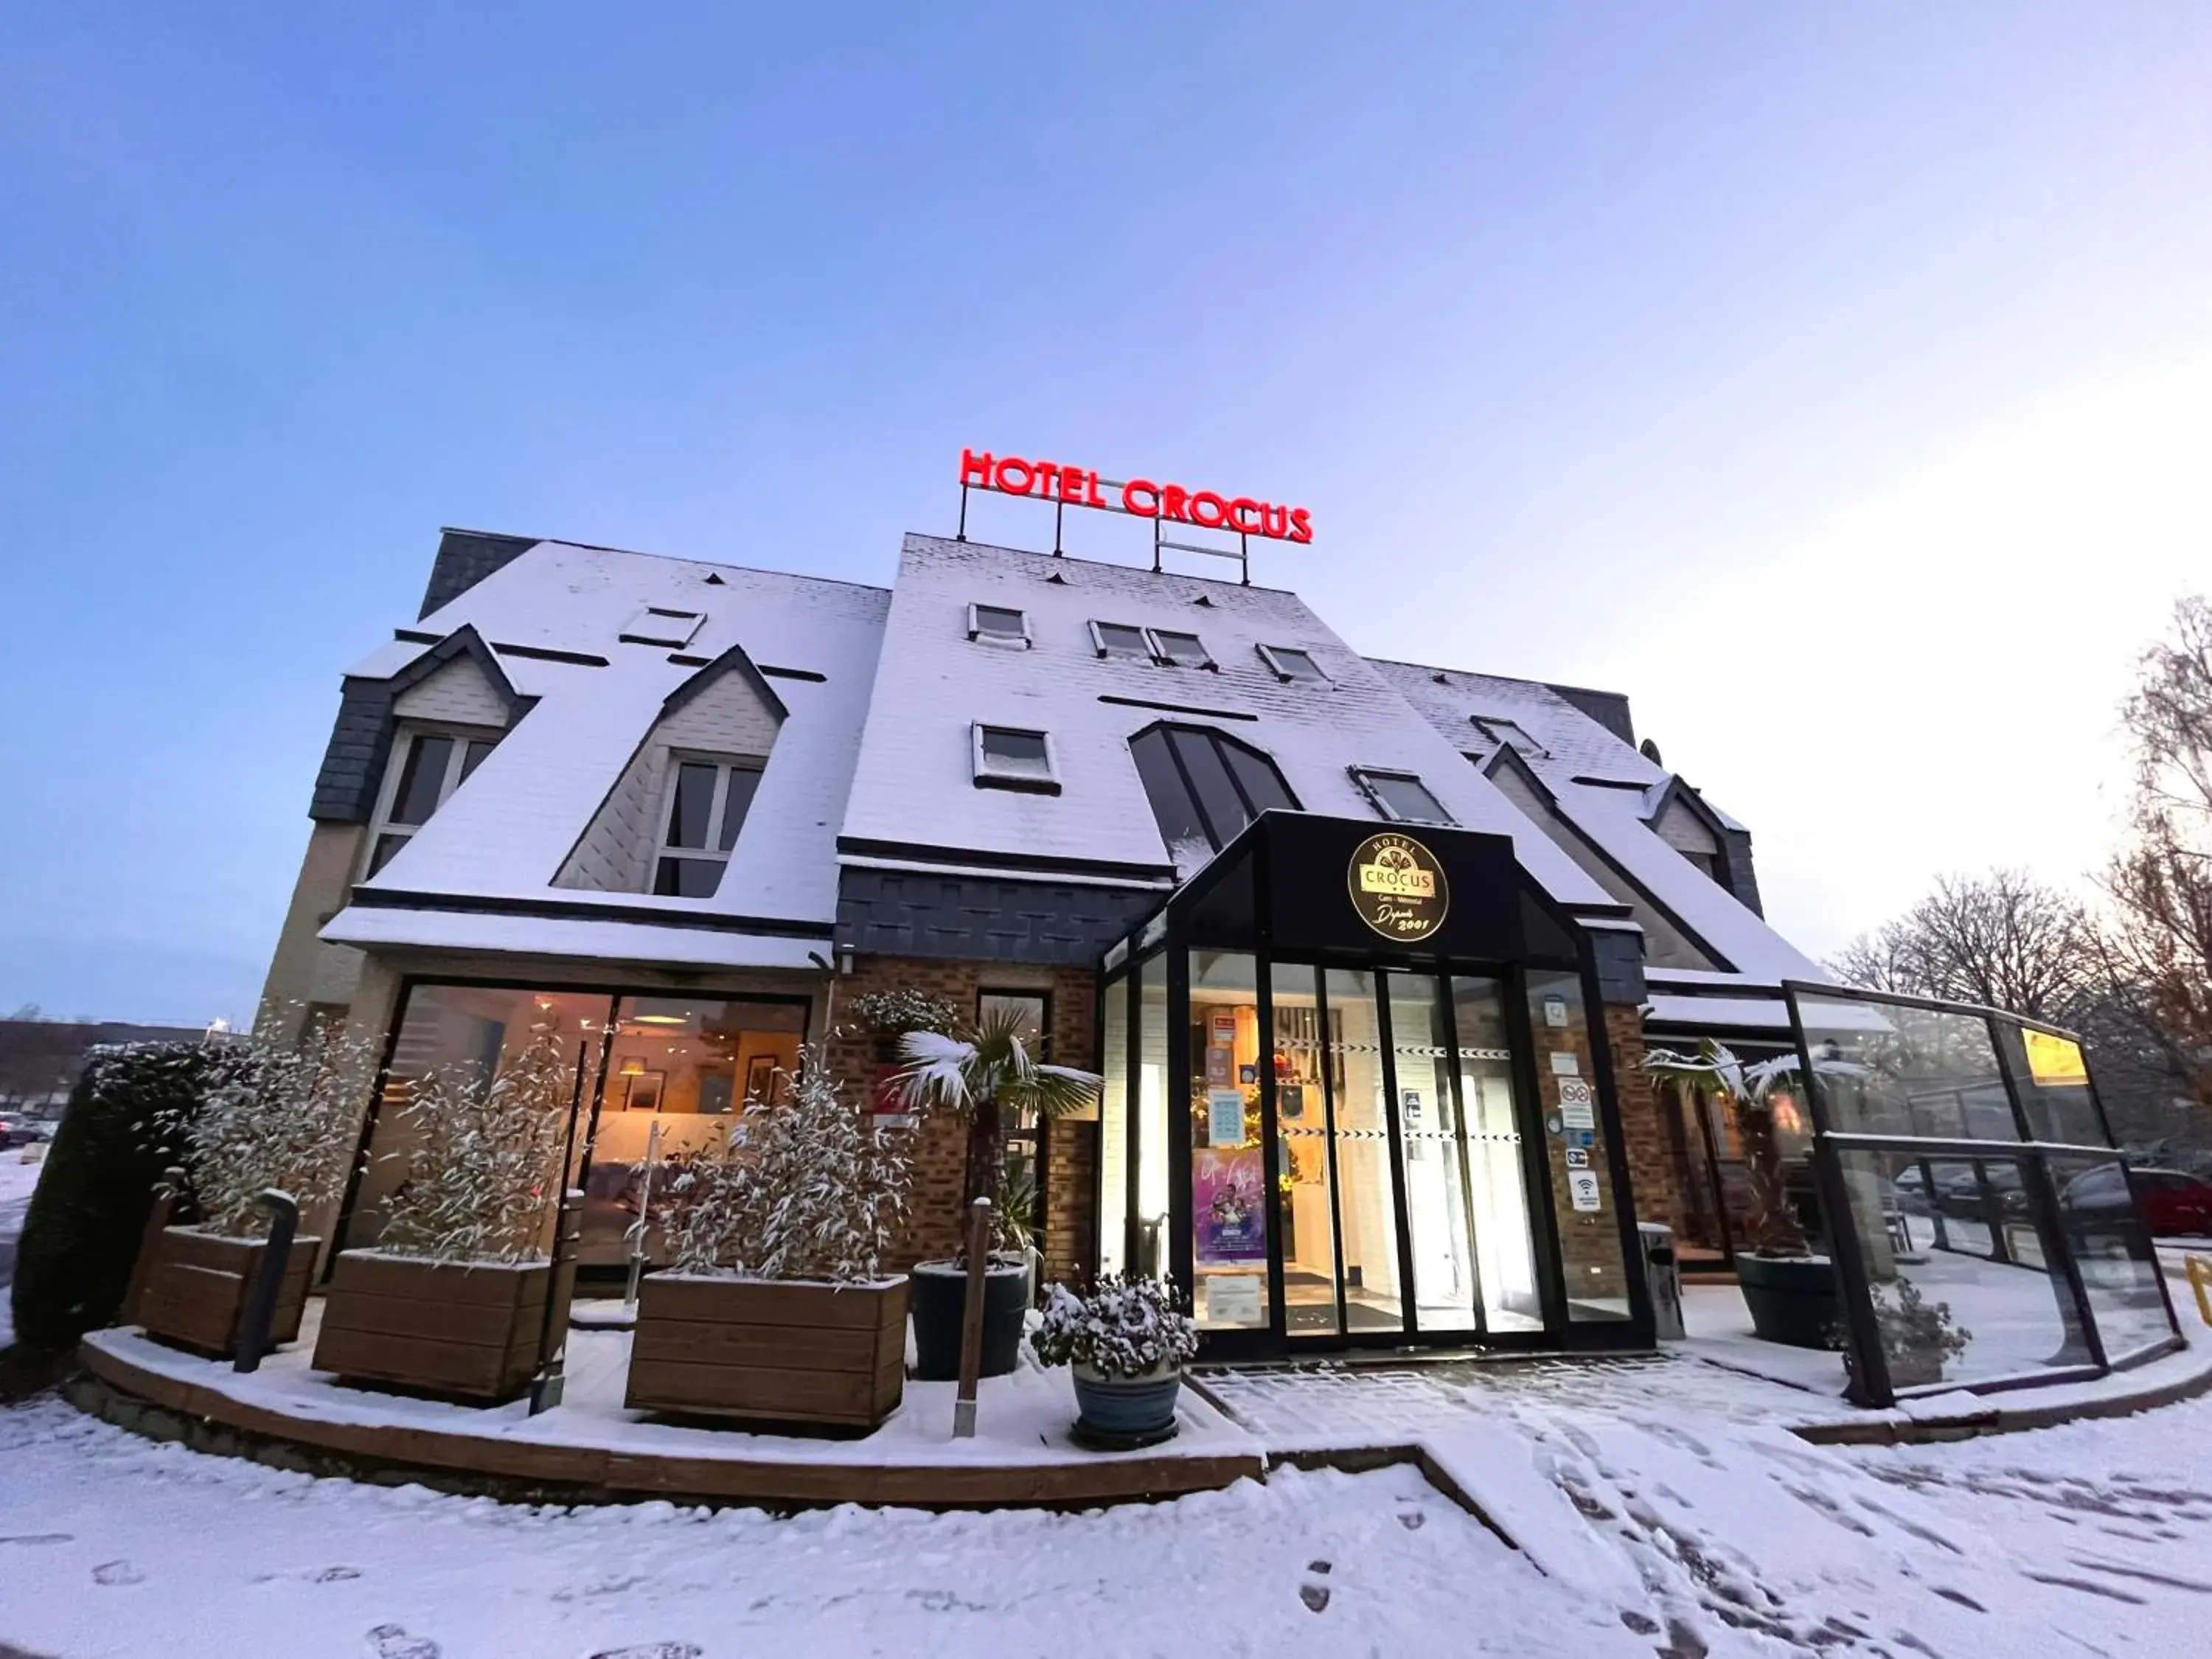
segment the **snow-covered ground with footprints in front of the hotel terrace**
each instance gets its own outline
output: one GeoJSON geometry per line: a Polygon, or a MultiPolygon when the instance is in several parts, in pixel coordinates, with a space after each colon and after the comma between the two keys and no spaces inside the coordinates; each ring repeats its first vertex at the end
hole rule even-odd
{"type": "Polygon", "coordinates": [[[1086,1515],[562,1511],[208,1458],[44,1398],[0,1411],[0,1659],[2212,1652],[2212,1400],[1834,1449],[1774,1405],[1834,1413],[1825,1383],[1677,1349],[1221,1389],[1270,1444],[1425,1447],[1517,1548],[1411,1467],[1086,1515]]]}

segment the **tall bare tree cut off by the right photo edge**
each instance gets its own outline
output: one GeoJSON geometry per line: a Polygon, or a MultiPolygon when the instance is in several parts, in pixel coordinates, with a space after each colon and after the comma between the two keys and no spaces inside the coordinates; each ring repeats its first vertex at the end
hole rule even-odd
{"type": "Polygon", "coordinates": [[[2104,874],[2101,964],[2199,1104],[2212,1106],[2212,604],[2185,597],[2121,706],[2130,834],[2104,874]]]}

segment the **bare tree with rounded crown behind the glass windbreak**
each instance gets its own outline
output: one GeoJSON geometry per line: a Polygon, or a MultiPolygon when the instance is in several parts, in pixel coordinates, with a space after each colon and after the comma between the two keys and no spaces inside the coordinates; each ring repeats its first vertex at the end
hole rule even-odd
{"type": "Polygon", "coordinates": [[[1905,916],[1863,933],[1827,967],[1869,991],[1980,1002],[2062,1020],[2097,978],[2088,911],[2020,869],[1942,876],[1905,916]]]}

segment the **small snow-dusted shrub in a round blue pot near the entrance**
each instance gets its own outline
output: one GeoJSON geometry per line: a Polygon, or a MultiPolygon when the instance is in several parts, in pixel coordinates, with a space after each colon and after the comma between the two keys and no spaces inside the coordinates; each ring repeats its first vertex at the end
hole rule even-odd
{"type": "Polygon", "coordinates": [[[1199,1352],[1199,1327],[1168,1285],[1106,1274],[1088,1296],[1053,1285],[1029,1345],[1037,1363],[1073,1371],[1075,1438],[1133,1451],[1175,1433],[1175,1398],[1199,1352]]]}

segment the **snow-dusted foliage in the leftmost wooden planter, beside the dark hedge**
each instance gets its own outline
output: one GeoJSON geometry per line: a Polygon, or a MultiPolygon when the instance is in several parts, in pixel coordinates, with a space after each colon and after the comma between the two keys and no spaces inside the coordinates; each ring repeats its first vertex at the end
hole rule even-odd
{"type": "Polygon", "coordinates": [[[223,1237],[261,1234],[259,1199],[288,1192],[303,1214],[345,1190],[347,1150],[374,1075],[374,1044],[343,1024],[285,1040],[283,1009],[246,1042],[206,1051],[208,1084],[192,1113],[173,1110],[184,1192],[199,1223],[223,1237]]]}

